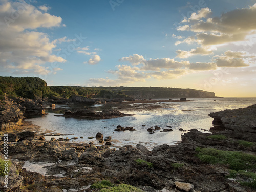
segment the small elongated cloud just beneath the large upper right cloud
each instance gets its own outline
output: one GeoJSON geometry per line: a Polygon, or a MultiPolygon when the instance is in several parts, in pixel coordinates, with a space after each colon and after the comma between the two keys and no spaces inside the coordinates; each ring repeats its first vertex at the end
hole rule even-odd
{"type": "Polygon", "coordinates": [[[179,58],[188,58],[194,55],[209,55],[213,54],[211,49],[203,48],[203,47],[197,47],[196,49],[191,49],[190,51],[182,51],[182,50],[177,50],[176,51],[177,56],[179,58]]]}

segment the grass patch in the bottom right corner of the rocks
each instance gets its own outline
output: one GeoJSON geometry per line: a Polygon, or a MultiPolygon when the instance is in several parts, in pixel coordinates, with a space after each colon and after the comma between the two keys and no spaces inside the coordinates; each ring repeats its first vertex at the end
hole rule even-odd
{"type": "Polygon", "coordinates": [[[227,178],[240,178],[238,182],[241,185],[256,189],[256,173],[246,172],[244,170],[239,170],[238,172],[236,170],[229,170],[227,178]],[[241,178],[245,181],[242,181],[241,178]]]}

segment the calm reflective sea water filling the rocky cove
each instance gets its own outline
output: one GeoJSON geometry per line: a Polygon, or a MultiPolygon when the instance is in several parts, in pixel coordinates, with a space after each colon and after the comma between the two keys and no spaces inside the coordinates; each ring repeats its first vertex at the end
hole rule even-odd
{"type": "MultiPolygon", "coordinates": [[[[115,106],[122,113],[134,114],[133,116],[88,120],[78,118],[56,117],[56,114],[63,114],[65,109],[74,110],[75,106],[56,105],[52,110],[48,108],[48,115],[26,119],[39,125],[41,130],[52,130],[52,133],[62,133],[65,136],[59,137],[78,137],[76,142],[93,142],[99,144],[94,139],[88,137],[96,136],[101,132],[104,137],[111,136],[114,147],[126,144],[143,144],[148,148],[153,148],[160,144],[175,144],[181,140],[181,135],[190,129],[198,129],[202,132],[209,132],[212,127],[212,118],[208,116],[211,112],[217,112],[225,109],[244,108],[256,104],[256,98],[207,98],[207,99],[189,99],[191,102],[156,102],[156,103],[137,103],[126,104],[123,102],[120,106],[115,106]],[[136,131],[117,132],[114,131],[117,125],[134,127],[136,131]],[[143,127],[142,125],[145,125],[143,127]],[[161,130],[149,134],[147,129],[158,125],[161,130]],[[172,132],[162,132],[167,126],[172,126],[172,132]],[[182,128],[186,131],[179,131],[182,128]],[[74,135],[70,135],[74,134],[74,135]],[[80,137],[83,139],[80,139],[80,137]]],[[[82,106],[82,108],[91,108],[95,111],[102,110],[104,105],[82,106]]],[[[76,106],[77,108],[77,106],[76,106]]],[[[53,136],[47,136],[50,139],[53,136]]],[[[54,136],[58,138],[58,136],[54,136]]],[[[72,140],[70,141],[72,142],[72,140]]]]}

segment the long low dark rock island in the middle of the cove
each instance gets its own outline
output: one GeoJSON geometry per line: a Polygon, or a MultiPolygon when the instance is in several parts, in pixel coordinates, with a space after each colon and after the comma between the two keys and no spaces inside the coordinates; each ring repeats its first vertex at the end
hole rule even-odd
{"type": "Polygon", "coordinates": [[[91,110],[77,110],[76,112],[71,112],[69,110],[65,111],[63,115],[55,115],[55,116],[63,116],[63,117],[83,117],[89,119],[110,119],[124,116],[131,116],[132,114],[124,114],[117,110],[102,110],[101,112],[95,112],[91,110]]]}

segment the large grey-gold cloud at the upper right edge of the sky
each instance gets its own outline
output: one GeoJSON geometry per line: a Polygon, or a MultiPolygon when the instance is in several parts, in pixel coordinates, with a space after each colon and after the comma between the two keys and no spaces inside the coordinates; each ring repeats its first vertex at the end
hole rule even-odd
{"type": "Polygon", "coordinates": [[[248,8],[236,9],[223,13],[220,17],[210,18],[211,10],[203,8],[193,13],[190,18],[184,19],[178,31],[193,31],[197,34],[180,43],[197,42],[203,46],[222,45],[230,42],[246,40],[251,34],[256,34],[256,4],[248,8]]]}

